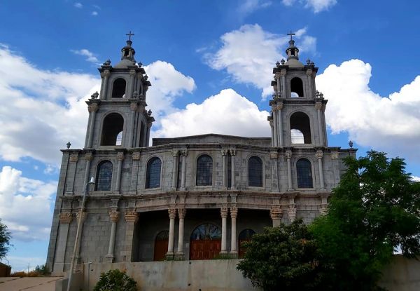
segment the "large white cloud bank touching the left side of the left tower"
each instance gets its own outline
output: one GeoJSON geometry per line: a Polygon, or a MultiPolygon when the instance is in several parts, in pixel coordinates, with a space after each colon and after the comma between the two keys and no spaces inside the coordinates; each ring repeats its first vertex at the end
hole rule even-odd
{"type": "Polygon", "coordinates": [[[3,45],[0,75],[0,102],[6,104],[0,107],[1,158],[30,156],[57,165],[66,142],[83,147],[85,100],[99,90],[99,78],[38,69],[3,45]]]}

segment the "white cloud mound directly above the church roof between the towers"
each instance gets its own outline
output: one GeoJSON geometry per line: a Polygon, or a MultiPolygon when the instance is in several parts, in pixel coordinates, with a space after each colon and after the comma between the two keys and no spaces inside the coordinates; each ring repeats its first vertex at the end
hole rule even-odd
{"type": "Polygon", "coordinates": [[[155,137],[178,137],[219,133],[246,137],[269,137],[267,111],[235,90],[225,89],[201,104],[190,103],[186,109],[162,118],[162,128],[155,137]]]}

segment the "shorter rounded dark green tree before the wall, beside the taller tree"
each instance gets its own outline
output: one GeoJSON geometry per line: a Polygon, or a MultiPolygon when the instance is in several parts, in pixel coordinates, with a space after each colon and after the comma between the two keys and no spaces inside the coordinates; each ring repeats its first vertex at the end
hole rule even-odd
{"type": "Polygon", "coordinates": [[[267,227],[244,245],[237,269],[255,287],[272,290],[318,290],[323,281],[319,252],[302,219],[290,225],[267,227]]]}

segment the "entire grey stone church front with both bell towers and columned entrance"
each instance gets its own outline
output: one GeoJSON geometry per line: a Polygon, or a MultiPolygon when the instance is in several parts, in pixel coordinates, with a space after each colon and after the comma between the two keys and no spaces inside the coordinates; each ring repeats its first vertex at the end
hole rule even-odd
{"type": "Polygon", "coordinates": [[[287,61],[273,69],[271,137],[207,134],[150,146],[151,83],[132,41],[117,65],[104,62],[100,94],[86,102],[85,147],[62,150],[48,268],[69,271],[78,219],[76,262],[128,263],[241,257],[241,243],[265,226],[325,212],[342,158],[356,149],[328,147],[318,68],[299,61],[294,43],[290,37],[287,61]]]}

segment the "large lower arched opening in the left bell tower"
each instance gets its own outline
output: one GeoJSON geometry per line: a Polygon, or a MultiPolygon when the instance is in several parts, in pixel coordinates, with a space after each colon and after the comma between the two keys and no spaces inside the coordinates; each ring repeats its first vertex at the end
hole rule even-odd
{"type": "Polygon", "coordinates": [[[123,140],[124,119],[118,113],[108,114],[104,119],[102,127],[101,145],[115,146],[123,140]]]}

